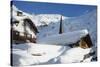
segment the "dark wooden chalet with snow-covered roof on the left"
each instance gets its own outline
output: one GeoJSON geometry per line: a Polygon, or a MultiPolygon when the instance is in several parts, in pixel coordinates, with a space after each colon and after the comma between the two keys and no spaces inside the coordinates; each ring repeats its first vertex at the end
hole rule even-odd
{"type": "Polygon", "coordinates": [[[36,33],[38,33],[38,29],[29,18],[11,22],[12,43],[36,43],[36,33]]]}

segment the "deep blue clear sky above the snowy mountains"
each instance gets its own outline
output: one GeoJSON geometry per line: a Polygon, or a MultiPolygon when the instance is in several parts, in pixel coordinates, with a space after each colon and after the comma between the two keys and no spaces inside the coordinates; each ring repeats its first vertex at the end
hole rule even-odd
{"type": "Polygon", "coordinates": [[[59,4],[15,0],[13,0],[13,4],[20,10],[30,14],[61,14],[69,17],[80,16],[97,8],[93,5],[59,4]]]}

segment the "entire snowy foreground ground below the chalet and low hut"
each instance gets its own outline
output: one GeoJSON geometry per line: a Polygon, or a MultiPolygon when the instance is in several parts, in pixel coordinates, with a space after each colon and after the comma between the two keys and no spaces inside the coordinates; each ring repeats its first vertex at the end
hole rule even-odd
{"type": "MultiPolygon", "coordinates": [[[[58,64],[58,63],[77,63],[90,62],[91,58],[86,61],[84,56],[90,53],[91,48],[83,49],[80,47],[70,48],[69,46],[58,46],[48,44],[19,44],[13,45],[13,65],[39,65],[39,64],[58,64]],[[28,49],[23,49],[26,46],[28,49]]],[[[92,56],[91,56],[92,57],[92,56]]]]}

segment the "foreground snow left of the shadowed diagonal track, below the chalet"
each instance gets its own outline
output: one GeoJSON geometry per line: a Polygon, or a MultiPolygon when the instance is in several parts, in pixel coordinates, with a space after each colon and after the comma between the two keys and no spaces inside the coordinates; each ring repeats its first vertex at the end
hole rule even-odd
{"type": "Polygon", "coordinates": [[[48,44],[26,43],[13,45],[13,65],[22,66],[56,63],[59,60],[57,57],[68,49],[70,47],[48,44]]]}

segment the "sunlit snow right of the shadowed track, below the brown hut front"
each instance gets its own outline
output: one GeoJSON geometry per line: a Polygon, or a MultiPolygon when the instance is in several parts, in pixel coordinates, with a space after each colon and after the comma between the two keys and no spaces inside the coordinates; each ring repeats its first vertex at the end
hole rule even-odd
{"type": "MultiPolygon", "coordinates": [[[[81,62],[84,58],[84,55],[88,54],[90,52],[90,50],[91,50],[90,48],[88,48],[88,49],[82,49],[80,47],[72,48],[72,49],[66,51],[64,53],[64,55],[61,56],[61,63],[81,62]]],[[[89,58],[88,58],[88,60],[89,60],[89,58]]],[[[85,61],[87,61],[87,60],[85,60],[85,61]]]]}

